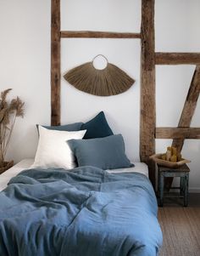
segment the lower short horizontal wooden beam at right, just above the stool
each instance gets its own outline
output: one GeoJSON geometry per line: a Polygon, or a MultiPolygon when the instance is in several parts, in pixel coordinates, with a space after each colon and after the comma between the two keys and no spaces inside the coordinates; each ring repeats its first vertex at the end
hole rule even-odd
{"type": "Polygon", "coordinates": [[[200,128],[156,128],[156,139],[200,139],[200,128]]]}

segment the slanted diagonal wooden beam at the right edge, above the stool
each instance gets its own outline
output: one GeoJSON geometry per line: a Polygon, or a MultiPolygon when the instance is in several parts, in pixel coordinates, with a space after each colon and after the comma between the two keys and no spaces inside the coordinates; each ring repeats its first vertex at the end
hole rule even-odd
{"type": "MultiPolygon", "coordinates": [[[[181,113],[181,118],[178,124],[180,128],[188,128],[191,125],[192,117],[197,106],[197,100],[200,92],[200,65],[197,65],[192,82],[186,96],[186,101],[181,113]]],[[[172,145],[178,148],[181,152],[184,139],[174,139],[172,145]]]]}

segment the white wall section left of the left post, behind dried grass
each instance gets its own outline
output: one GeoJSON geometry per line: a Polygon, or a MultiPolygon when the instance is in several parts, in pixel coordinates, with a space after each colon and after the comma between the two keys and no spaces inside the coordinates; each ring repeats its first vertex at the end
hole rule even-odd
{"type": "Polygon", "coordinates": [[[0,0],[0,90],[25,101],[8,159],[34,156],[36,123],[50,122],[50,2],[0,0]]]}

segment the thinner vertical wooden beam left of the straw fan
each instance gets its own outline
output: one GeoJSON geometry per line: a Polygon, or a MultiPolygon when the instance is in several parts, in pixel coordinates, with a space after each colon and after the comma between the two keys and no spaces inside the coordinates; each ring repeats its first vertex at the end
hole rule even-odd
{"type": "Polygon", "coordinates": [[[52,0],[51,123],[60,124],[60,0],[52,0]]]}

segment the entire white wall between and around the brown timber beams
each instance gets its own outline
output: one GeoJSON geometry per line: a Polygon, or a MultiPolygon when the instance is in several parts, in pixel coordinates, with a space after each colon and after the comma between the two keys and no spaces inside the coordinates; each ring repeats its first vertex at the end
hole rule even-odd
{"type": "MultiPolygon", "coordinates": [[[[18,162],[36,151],[36,123],[50,123],[50,2],[0,0],[0,90],[14,88],[25,100],[8,158],[18,162]]],[[[198,0],[156,1],[156,50],[200,52],[198,0]]],[[[141,1],[62,1],[62,30],[140,31],[141,1]]],[[[127,155],[139,159],[140,40],[63,39],[62,74],[104,54],[136,82],[124,94],[97,97],[82,93],[62,79],[62,122],[85,122],[105,111],[114,133],[125,138],[127,155]]],[[[177,126],[194,66],[157,67],[157,126],[177,126]]],[[[192,126],[200,125],[199,101],[192,126]]],[[[171,140],[158,140],[164,151],[171,140]]],[[[183,155],[192,160],[190,188],[200,191],[200,141],[187,140],[183,155]]]]}

